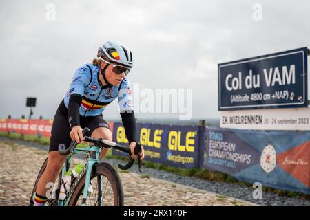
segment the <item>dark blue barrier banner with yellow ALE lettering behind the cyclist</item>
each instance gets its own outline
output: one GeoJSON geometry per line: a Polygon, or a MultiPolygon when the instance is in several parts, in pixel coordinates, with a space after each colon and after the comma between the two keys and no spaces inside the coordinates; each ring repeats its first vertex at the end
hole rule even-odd
{"type": "MultiPolygon", "coordinates": [[[[137,124],[139,142],[145,149],[145,160],[181,168],[201,167],[205,127],[137,124]]],[[[128,144],[123,124],[114,123],[113,140],[128,144]]],[[[114,155],[125,155],[113,151],[114,155]]]]}

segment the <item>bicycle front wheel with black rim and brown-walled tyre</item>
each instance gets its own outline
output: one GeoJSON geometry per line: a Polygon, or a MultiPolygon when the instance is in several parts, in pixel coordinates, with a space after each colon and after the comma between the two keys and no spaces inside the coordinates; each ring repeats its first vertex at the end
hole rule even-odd
{"type": "MultiPolygon", "coordinates": [[[[86,174],[77,184],[68,206],[81,206],[86,174]]],[[[90,176],[91,188],[87,192],[86,206],[123,206],[123,186],[116,170],[107,163],[95,164],[90,176]]]]}

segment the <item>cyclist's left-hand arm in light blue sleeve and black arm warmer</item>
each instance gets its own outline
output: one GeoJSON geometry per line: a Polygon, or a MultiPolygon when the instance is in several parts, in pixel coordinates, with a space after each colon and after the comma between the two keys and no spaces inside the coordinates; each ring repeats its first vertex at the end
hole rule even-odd
{"type": "Polygon", "coordinates": [[[90,69],[83,65],[76,70],[68,94],[68,121],[71,128],[80,125],[79,108],[83,99],[85,86],[89,83],[90,69]]]}

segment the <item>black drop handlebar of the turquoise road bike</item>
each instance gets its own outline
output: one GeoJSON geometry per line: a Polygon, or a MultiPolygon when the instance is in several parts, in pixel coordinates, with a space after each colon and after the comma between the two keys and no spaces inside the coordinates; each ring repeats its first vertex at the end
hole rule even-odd
{"type": "MultiPolygon", "coordinates": [[[[90,133],[90,129],[88,129],[88,128],[84,128],[82,133],[83,133],[83,137],[84,137],[85,142],[90,142],[90,143],[96,144],[97,146],[102,146],[104,148],[111,148],[112,147],[116,150],[128,153],[128,155],[130,157],[129,162],[127,164],[118,164],[118,168],[120,168],[121,170],[127,170],[127,169],[131,168],[132,165],[134,165],[134,158],[132,158],[132,153],[131,153],[129,147],[123,146],[121,144],[116,144],[115,142],[111,142],[109,140],[102,140],[101,138],[88,137],[87,135],[90,133]]],[[[70,153],[72,154],[74,151],[74,148],[77,145],[78,145],[77,142],[72,141],[68,149],[66,149],[66,150],[59,149],[58,153],[60,155],[69,155],[70,153]]],[[[141,162],[139,153],[141,153],[141,144],[136,143],[136,147],[134,148],[134,155],[138,155],[139,171],[142,172],[142,170],[141,170],[142,162],[141,162]]]]}

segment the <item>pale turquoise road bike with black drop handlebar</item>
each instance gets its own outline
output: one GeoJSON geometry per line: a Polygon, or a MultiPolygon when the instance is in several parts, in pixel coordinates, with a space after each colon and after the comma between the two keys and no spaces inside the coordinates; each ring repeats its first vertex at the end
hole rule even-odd
{"type": "MultiPolygon", "coordinates": [[[[88,128],[84,128],[82,132],[83,137],[85,137],[84,141],[92,143],[93,145],[90,144],[90,146],[85,148],[76,148],[78,143],[72,141],[69,148],[66,150],[59,148],[58,153],[61,155],[68,155],[68,157],[65,160],[63,167],[61,168],[58,181],[56,179],[57,186],[53,187],[53,193],[50,197],[48,197],[48,201],[45,203],[45,206],[110,206],[110,202],[112,202],[113,206],[123,206],[124,196],[121,178],[119,177],[117,171],[110,164],[107,164],[106,162],[99,162],[99,155],[102,148],[114,148],[116,150],[128,153],[130,157],[129,162],[127,164],[118,164],[118,168],[121,170],[127,170],[134,164],[134,158],[131,157],[130,148],[116,144],[115,142],[103,140],[101,138],[97,139],[94,137],[88,137],[87,134],[90,133],[90,129],[88,128]],[[65,199],[61,200],[59,199],[59,192],[61,189],[61,184],[64,184],[62,181],[63,175],[70,169],[72,155],[81,153],[89,155],[87,162],[83,166],[79,176],[76,177],[76,179],[72,179],[70,188],[65,190],[65,199]],[[93,190],[93,193],[88,192],[88,187],[90,186],[91,181],[92,186],[96,186],[96,190],[93,190]],[[105,189],[103,191],[104,184],[105,189]],[[111,188],[112,191],[110,191],[111,188]],[[94,203],[91,203],[92,201],[94,201],[94,203]]],[[[140,152],[141,144],[137,143],[135,148],[135,155],[138,155],[140,152]]],[[[34,204],[34,195],[37,189],[37,183],[43,174],[47,163],[48,157],[45,159],[45,162],[41,166],[37,179],[34,183],[34,188],[30,196],[30,206],[33,206],[34,204]]],[[[140,172],[141,166],[142,162],[138,156],[138,168],[140,172]]]]}

